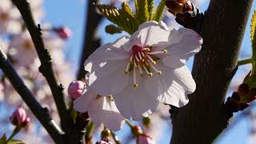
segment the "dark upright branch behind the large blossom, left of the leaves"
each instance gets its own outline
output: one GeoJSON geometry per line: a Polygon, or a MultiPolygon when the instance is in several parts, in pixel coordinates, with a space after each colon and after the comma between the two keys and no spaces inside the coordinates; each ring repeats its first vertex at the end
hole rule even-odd
{"type": "Polygon", "coordinates": [[[101,39],[96,37],[96,33],[98,30],[98,25],[102,20],[102,15],[98,14],[96,11],[95,3],[97,0],[90,0],[87,4],[86,14],[86,25],[85,25],[85,36],[84,36],[84,43],[82,46],[82,53],[81,53],[81,61],[79,64],[79,70],[77,79],[83,79],[85,77],[86,71],[84,70],[84,62],[86,59],[96,50],[100,44],[101,39]]]}

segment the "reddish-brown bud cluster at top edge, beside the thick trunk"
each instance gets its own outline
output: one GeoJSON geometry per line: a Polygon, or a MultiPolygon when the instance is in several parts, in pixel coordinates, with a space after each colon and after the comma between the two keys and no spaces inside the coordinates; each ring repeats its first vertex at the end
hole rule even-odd
{"type": "Polygon", "coordinates": [[[166,0],[166,6],[171,14],[185,14],[193,10],[190,0],[166,0]]]}

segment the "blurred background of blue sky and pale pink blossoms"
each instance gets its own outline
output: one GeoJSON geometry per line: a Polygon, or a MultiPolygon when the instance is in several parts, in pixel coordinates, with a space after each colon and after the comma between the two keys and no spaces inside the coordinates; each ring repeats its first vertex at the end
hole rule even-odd
{"type": "MultiPolygon", "coordinates": [[[[46,85],[44,78],[38,74],[39,62],[34,53],[33,44],[30,42],[30,36],[26,30],[22,29],[22,20],[17,10],[13,6],[9,6],[10,0],[1,0],[0,2],[0,46],[3,47],[6,54],[8,54],[11,61],[14,63],[18,74],[22,75],[26,85],[33,90],[39,102],[44,106],[50,107],[50,113],[54,120],[58,122],[58,116],[54,102],[51,99],[49,88],[46,85]],[[2,15],[1,15],[2,14],[2,15]],[[8,23],[4,23],[6,17],[4,14],[10,14],[8,23]],[[12,18],[12,19],[11,19],[12,18]],[[1,23],[2,22],[2,23],[1,23]],[[27,59],[27,60],[23,60],[27,59]]],[[[46,46],[50,49],[52,58],[54,59],[54,69],[58,74],[58,78],[64,84],[65,87],[69,85],[75,79],[78,71],[78,66],[81,58],[83,38],[85,35],[86,14],[88,0],[31,0],[32,10],[36,17],[37,22],[42,23],[44,31],[44,40],[46,46]],[[67,26],[72,31],[70,38],[61,38],[56,34],[53,29],[62,26],[67,26]]],[[[102,3],[112,3],[115,6],[121,6],[121,0],[102,0],[102,3]]],[[[128,2],[128,1],[127,1],[128,2]]],[[[157,5],[159,0],[155,0],[157,5]]],[[[206,10],[209,0],[192,0],[195,6],[198,6],[203,12],[206,10]]],[[[133,2],[130,1],[130,5],[133,2]]],[[[252,13],[256,9],[256,4],[253,5],[252,13]]],[[[179,25],[174,21],[174,17],[171,14],[165,13],[163,21],[170,27],[178,28],[179,25]]],[[[110,22],[105,18],[102,19],[100,26],[98,27],[98,37],[102,39],[102,45],[107,42],[114,42],[122,34],[106,34],[105,26],[110,22]]],[[[240,58],[249,58],[251,54],[250,46],[250,21],[246,27],[246,34],[244,36],[241,47],[240,58]]],[[[188,62],[188,66],[192,67],[193,58],[188,62]]],[[[237,74],[235,75],[227,96],[230,96],[237,86],[242,83],[243,78],[250,71],[250,65],[240,66],[237,74]]],[[[10,135],[11,130],[14,129],[9,122],[9,117],[17,106],[26,105],[22,102],[18,94],[12,89],[10,83],[3,77],[0,72],[0,136],[4,133],[10,135]],[[2,78],[1,78],[2,77],[2,78]]],[[[230,127],[219,135],[215,143],[217,144],[241,144],[241,143],[256,143],[256,114],[254,114],[254,104],[251,104],[247,110],[239,112],[234,115],[230,127]]],[[[29,110],[27,110],[29,111],[29,110]]],[[[22,132],[18,134],[17,138],[22,139],[26,143],[52,143],[47,136],[46,131],[38,124],[38,121],[34,118],[33,114],[30,114],[32,123],[22,132]]],[[[146,130],[150,136],[154,138],[157,143],[165,144],[170,142],[171,136],[171,122],[168,106],[159,106],[157,113],[152,115],[152,124],[150,129],[146,130]]],[[[136,123],[136,122],[134,122],[136,123]]],[[[136,123],[141,125],[140,123],[136,123]]],[[[94,140],[99,139],[99,130],[95,130],[94,140]]],[[[125,126],[122,130],[117,132],[118,138],[123,143],[134,143],[130,129],[125,126]]]]}

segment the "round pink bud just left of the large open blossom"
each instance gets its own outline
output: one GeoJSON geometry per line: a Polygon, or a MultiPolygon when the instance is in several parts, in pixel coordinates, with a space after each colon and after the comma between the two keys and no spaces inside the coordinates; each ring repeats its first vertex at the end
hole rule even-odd
{"type": "Polygon", "coordinates": [[[82,95],[83,90],[86,88],[86,84],[82,81],[74,81],[70,83],[68,88],[68,94],[71,98],[78,98],[82,95]]]}

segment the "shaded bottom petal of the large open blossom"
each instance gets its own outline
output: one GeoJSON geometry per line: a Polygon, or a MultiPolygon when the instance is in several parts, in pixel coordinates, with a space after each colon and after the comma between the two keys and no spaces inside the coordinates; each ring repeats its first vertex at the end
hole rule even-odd
{"type": "MultiPolygon", "coordinates": [[[[127,119],[140,121],[142,114],[155,110],[158,106],[156,98],[151,97],[143,86],[142,79],[138,79],[139,86],[127,86],[120,93],[113,95],[120,113],[127,119]]],[[[146,113],[150,114],[150,113],[146,113]]]]}

